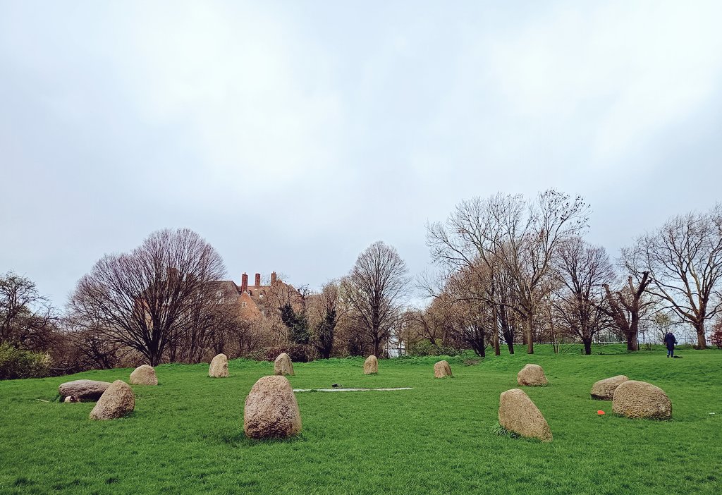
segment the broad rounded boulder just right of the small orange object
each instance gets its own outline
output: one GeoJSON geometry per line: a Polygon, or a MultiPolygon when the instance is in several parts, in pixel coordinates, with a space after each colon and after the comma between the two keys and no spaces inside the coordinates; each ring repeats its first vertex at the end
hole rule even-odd
{"type": "Polygon", "coordinates": [[[647,382],[627,380],[614,390],[612,411],[634,419],[669,419],[672,403],[661,388],[647,382]]]}

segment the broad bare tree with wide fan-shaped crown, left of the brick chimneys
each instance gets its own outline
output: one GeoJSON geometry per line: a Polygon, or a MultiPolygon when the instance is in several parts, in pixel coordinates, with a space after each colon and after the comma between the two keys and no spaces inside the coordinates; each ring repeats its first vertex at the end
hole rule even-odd
{"type": "Polygon", "coordinates": [[[212,281],[225,268],[214,248],[189,229],[152,233],[130,253],[105,255],[69,302],[77,321],[139,351],[152,366],[181,338],[192,315],[216,305],[212,281]]]}

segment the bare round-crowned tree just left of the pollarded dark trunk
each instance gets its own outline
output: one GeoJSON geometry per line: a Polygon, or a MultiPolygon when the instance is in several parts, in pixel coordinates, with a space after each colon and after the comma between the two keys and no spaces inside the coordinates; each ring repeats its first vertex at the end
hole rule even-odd
{"type": "Polygon", "coordinates": [[[554,266],[561,286],[552,299],[557,322],[591,354],[592,339],[606,325],[602,287],[614,279],[609,255],[604,247],[571,237],[560,244],[554,266]]]}

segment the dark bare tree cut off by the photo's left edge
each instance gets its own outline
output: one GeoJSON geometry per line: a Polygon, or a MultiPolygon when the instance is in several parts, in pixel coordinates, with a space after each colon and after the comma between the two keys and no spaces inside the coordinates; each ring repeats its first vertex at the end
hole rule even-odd
{"type": "Polygon", "coordinates": [[[0,276],[0,343],[45,350],[55,320],[54,308],[40,295],[35,282],[12,272],[0,276]]]}

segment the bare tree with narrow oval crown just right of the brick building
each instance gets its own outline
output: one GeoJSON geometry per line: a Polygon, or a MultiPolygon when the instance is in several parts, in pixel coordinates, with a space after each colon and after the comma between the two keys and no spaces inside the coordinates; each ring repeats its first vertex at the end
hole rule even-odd
{"type": "Polygon", "coordinates": [[[401,302],[409,288],[406,263],[396,248],[381,241],[366,248],[342,281],[353,315],[367,336],[373,352],[380,355],[399,319],[401,302]]]}

